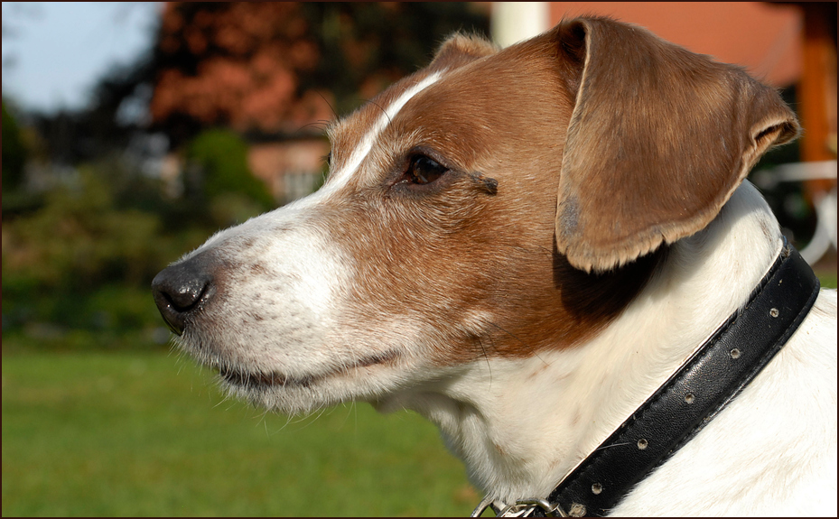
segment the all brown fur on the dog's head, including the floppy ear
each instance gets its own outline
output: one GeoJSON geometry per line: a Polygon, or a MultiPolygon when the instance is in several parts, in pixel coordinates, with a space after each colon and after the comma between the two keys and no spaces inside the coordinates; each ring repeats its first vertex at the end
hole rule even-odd
{"type": "Polygon", "coordinates": [[[707,225],[797,132],[741,70],[583,19],[503,51],[452,38],[333,128],[333,160],[433,71],[322,218],[355,261],[345,319],[406,320],[440,364],[591,338],[642,290],[662,243],[707,225]],[[448,172],[402,181],[417,154],[448,172]]]}

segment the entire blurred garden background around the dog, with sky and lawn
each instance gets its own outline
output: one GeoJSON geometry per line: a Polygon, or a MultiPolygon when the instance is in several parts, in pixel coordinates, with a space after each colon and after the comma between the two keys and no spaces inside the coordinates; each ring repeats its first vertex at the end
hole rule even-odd
{"type": "Polygon", "coordinates": [[[835,3],[3,3],[3,515],[441,515],[480,500],[433,426],[225,401],[149,286],[316,190],[323,130],[445,36],[609,14],[739,63],[805,128],[751,173],[836,286],[835,3]]]}

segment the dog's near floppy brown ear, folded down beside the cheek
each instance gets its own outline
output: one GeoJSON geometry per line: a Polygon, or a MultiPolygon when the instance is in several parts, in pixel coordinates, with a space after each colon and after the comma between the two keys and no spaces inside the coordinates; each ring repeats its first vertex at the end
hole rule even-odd
{"type": "Polygon", "coordinates": [[[771,88],[632,25],[555,28],[574,101],[555,236],[573,266],[603,272],[702,229],[769,146],[798,132],[771,88]]]}

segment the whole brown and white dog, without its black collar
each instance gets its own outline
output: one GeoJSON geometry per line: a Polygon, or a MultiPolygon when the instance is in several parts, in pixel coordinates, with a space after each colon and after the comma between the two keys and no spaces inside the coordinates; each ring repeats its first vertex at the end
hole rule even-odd
{"type": "MultiPolygon", "coordinates": [[[[773,89],[638,26],[565,20],[503,50],[456,34],[331,125],[321,190],[211,236],[155,301],[230,394],[415,410],[514,513],[748,306],[785,245],[744,178],[798,131],[773,89]]],[[[836,514],[836,292],[817,291],[602,514],[836,514]]]]}

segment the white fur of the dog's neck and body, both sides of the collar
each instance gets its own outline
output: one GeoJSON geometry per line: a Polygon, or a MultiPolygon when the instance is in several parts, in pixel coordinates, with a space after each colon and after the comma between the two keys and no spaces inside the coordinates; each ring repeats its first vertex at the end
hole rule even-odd
{"type": "MultiPolygon", "coordinates": [[[[780,244],[765,201],[745,183],[583,348],[476,362],[382,405],[437,423],[489,496],[545,497],[745,302],[780,244]]],[[[614,514],[834,514],[835,321],[836,292],[823,290],[764,373],[614,514]]]]}

